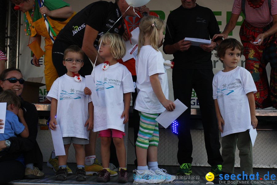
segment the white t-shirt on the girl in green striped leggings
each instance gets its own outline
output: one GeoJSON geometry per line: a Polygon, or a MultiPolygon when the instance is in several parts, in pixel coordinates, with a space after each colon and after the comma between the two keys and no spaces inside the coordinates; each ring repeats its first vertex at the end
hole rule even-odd
{"type": "Polygon", "coordinates": [[[164,59],[161,51],[156,51],[150,45],[141,48],[136,60],[136,87],[138,95],[134,109],[150,114],[162,113],[165,110],[156,97],[150,83],[150,76],[159,73],[158,78],[163,94],[168,99],[167,71],[163,63],[164,59]]]}

